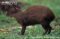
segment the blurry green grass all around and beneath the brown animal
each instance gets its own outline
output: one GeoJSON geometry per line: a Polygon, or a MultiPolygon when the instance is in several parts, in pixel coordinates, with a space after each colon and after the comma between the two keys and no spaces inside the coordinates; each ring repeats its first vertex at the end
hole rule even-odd
{"type": "Polygon", "coordinates": [[[25,35],[19,35],[20,25],[14,18],[7,17],[0,12],[0,39],[60,39],[60,0],[22,0],[30,5],[22,7],[26,9],[33,5],[43,5],[49,7],[55,14],[56,19],[50,24],[54,30],[49,35],[42,35],[44,29],[41,25],[34,25],[26,29],[25,35]],[[57,20],[57,21],[56,21],[57,20]],[[16,27],[12,29],[12,27],[16,27]],[[2,31],[1,31],[2,30],[2,31]]]}

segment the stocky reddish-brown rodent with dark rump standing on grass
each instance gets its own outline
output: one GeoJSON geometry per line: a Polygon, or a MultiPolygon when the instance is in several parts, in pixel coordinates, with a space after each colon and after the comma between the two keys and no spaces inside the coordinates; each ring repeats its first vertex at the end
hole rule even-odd
{"type": "Polygon", "coordinates": [[[44,34],[50,34],[52,30],[50,23],[55,18],[53,12],[45,6],[31,6],[25,11],[14,14],[9,12],[7,15],[15,17],[17,22],[22,25],[21,35],[24,35],[27,26],[35,24],[41,24],[45,30],[44,34]]]}

